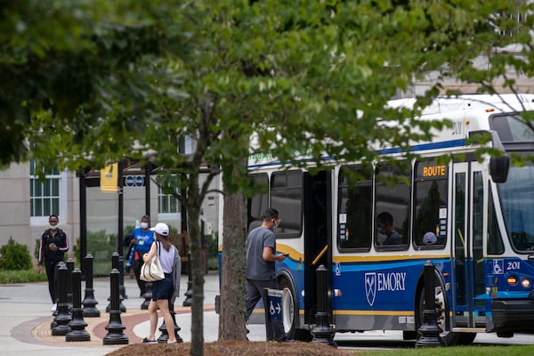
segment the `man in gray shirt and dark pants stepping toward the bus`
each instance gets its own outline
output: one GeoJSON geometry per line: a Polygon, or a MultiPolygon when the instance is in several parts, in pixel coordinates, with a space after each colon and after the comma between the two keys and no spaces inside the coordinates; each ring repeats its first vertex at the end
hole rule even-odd
{"type": "MultiPolygon", "coordinates": [[[[275,274],[275,261],[282,262],[285,255],[275,255],[276,237],[272,230],[279,224],[279,213],[268,208],[262,216],[262,225],[248,233],[247,237],[247,320],[263,296],[263,288],[279,289],[275,274]]],[[[287,341],[281,321],[272,320],[272,330],[267,338],[287,341]]]]}

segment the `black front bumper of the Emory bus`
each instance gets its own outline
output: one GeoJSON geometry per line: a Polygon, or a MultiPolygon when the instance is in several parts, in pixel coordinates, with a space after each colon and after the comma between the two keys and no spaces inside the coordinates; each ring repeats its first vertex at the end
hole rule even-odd
{"type": "Polygon", "coordinates": [[[512,337],[514,333],[534,334],[534,301],[530,299],[494,299],[491,315],[499,337],[512,337]]]}

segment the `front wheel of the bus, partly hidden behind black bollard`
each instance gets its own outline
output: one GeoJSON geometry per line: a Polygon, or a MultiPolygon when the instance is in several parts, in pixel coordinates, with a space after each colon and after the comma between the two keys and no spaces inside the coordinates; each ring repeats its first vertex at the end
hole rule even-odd
{"type": "MultiPolygon", "coordinates": [[[[460,341],[460,335],[461,333],[454,333],[451,331],[447,331],[446,326],[446,320],[448,320],[449,315],[449,303],[447,301],[447,295],[443,293],[443,287],[441,286],[441,283],[439,280],[437,280],[436,277],[436,286],[434,287],[434,295],[435,295],[435,301],[436,301],[436,310],[437,310],[437,322],[438,326],[443,330],[441,332],[441,341],[443,342],[444,346],[454,346],[459,343],[460,341]]],[[[416,328],[417,330],[421,328],[421,326],[425,323],[425,286],[421,288],[421,293],[419,294],[419,298],[417,301],[417,315],[416,315],[416,328]]],[[[417,339],[420,337],[419,333],[417,333],[417,339]]]]}

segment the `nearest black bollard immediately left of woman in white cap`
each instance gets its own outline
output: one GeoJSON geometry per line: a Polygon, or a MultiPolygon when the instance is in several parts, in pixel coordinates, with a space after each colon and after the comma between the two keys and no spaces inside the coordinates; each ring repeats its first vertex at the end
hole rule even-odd
{"type": "Polygon", "coordinates": [[[120,295],[118,293],[118,279],[120,272],[114,268],[109,273],[109,323],[106,326],[108,334],[104,336],[103,344],[128,344],[128,336],[125,336],[125,326],[120,320],[120,295]]]}

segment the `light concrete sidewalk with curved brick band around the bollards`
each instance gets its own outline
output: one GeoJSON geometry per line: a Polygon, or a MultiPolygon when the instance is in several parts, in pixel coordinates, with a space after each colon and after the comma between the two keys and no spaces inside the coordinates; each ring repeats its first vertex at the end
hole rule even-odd
{"type": "MultiPolygon", "coordinates": [[[[174,303],[176,322],[182,330],[179,335],[184,342],[190,342],[190,307],[183,307],[184,293],[187,291],[188,277],[182,276],[181,297],[174,303]]],[[[91,335],[91,341],[67,342],[65,336],[52,336],[48,284],[46,282],[16,285],[0,285],[0,355],[36,356],[53,354],[53,356],[70,356],[74,353],[84,356],[101,356],[113,352],[125,345],[103,345],[102,338],[107,335],[105,327],[109,323],[108,306],[109,278],[93,280],[94,297],[101,311],[99,318],[85,318],[85,330],[91,335]]],[[[219,280],[216,272],[206,276],[204,286],[204,338],[206,342],[217,340],[219,317],[214,312],[214,298],[219,292],[219,280]]],[[[149,314],[141,310],[144,299],[139,297],[139,288],[135,279],[125,278],[123,301],[126,312],[121,313],[121,322],[125,325],[125,336],[129,344],[141,343],[150,328],[149,314]]],[[[82,283],[82,299],[85,296],[85,283],[82,283]]],[[[162,318],[158,320],[158,327],[162,318]]],[[[249,339],[263,341],[263,325],[251,325],[249,339]]],[[[159,332],[157,332],[157,336],[159,332]]]]}

